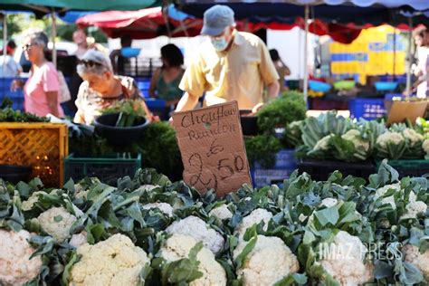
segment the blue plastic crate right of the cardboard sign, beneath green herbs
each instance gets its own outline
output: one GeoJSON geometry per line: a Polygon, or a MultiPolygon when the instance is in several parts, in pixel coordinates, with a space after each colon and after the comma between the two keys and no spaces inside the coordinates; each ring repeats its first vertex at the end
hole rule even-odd
{"type": "Polygon", "coordinates": [[[270,186],[272,184],[282,185],[283,180],[291,176],[297,168],[294,149],[282,149],[276,155],[274,167],[263,168],[257,162],[251,168],[251,176],[254,187],[270,186]]]}

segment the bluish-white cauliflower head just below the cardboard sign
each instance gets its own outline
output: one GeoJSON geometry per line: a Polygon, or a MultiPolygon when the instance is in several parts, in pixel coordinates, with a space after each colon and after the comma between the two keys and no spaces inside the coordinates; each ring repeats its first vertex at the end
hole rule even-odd
{"type": "Polygon", "coordinates": [[[204,246],[213,253],[218,253],[224,248],[224,237],[217,233],[201,218],[190,215],[180,221],[169,225],[168,234],[185,234],[194,237],[197,242],[203,242],[204,246]]]}

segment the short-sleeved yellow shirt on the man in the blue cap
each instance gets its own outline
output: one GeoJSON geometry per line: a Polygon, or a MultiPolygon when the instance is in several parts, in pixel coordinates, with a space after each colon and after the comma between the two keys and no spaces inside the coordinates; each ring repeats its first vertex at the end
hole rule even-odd
{"type": "Polygon", "coordinates": [[[216,52],[210,41],[186,69],[179,88],[193,96],[205,92],[205,105],[237,100],[240,109],[261,103],[263,86],[279,75],[262,40],[252,33],[235,32],[227,52],[216,52]]]}

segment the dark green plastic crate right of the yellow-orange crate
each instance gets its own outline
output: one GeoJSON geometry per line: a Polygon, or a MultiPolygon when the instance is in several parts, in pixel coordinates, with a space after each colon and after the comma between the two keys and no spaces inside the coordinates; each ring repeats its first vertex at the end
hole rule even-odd
{"type": "Polygon", "coordinates": [[[87,176],[96,176],[101,182],[116,186],[123,176],[133,177],[141,167],[141,155],[123,157],[112,154],[106,157],[75,157],[74,154],[64,159],[65,182],[70,178],[77,182],[87,176]]]}

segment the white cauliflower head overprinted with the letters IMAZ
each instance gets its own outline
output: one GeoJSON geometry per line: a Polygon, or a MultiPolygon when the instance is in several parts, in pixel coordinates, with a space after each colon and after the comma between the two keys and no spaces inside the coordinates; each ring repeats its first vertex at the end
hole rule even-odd
{"type": "Polygon", "coordinates": [[[372,280],[373,266],[364,263],[367,246],[357,236],[339,231],[326,248],[319,263],[341,285],[360,285],[372,280]]]}

